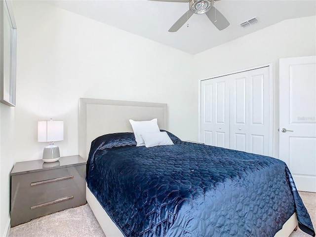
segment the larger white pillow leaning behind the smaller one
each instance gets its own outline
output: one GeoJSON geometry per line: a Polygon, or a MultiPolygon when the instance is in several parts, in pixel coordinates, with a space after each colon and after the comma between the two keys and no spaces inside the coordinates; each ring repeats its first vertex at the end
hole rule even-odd
{"type": "Polygon", "coordinates": [[[136,140],[136,147],[145,146],[145,142],[141,137],[141,134],[144,132],[159,132],[159,127],[157,124],[157,118],[154,118],[150,121],[134,121],[129,119],[130,124],[132,125],[134,136],[136,140]]]}

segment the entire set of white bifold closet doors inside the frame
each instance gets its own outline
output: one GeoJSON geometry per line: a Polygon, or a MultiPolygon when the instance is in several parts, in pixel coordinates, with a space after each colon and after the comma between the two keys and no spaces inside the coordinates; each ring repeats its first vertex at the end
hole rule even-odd
{"type": "Polygon", "coordinates": [[[200,82],[200,138],[206,145],[269,156],[269,67],[200,82]]]}

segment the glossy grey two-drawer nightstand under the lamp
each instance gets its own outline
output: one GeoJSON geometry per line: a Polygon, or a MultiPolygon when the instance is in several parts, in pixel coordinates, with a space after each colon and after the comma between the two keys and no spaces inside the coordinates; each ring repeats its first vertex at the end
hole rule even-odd
{"type": "Polygon", "coordinates": [[[11,171],[11,227],[84,205],[86,161],[80,156],[16,162],[11,171]]]}

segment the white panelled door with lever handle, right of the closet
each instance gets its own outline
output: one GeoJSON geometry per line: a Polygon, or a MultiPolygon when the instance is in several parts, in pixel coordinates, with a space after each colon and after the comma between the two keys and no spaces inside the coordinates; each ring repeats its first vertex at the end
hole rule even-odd
{"type": "Polygon", "coordinates": [[[316,56],[279,65],[279,158],[298,190],[316,192],[316,56]]]}

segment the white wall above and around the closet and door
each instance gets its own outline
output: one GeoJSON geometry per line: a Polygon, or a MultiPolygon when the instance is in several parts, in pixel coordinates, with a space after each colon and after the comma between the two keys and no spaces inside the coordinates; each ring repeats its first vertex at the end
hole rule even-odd
{"type": "MultiPolygon", "coordinates": [[[[285,20],[196,54],[194,56],[194,65],[196,65],[194,68],[203,70],[196,70],[195,75],[197,79],[207,79],[241,69],[273,63],[273,156],[277,158],[279,145],[277,131],[279,124],[278,59],[316,55],[315,42],[315,16],[285,20]],[[197,65],[199,66],[197,67],[197,65]]],[[[196,100],[198,100],[197,86],[195,90],[196,100]]]]}

